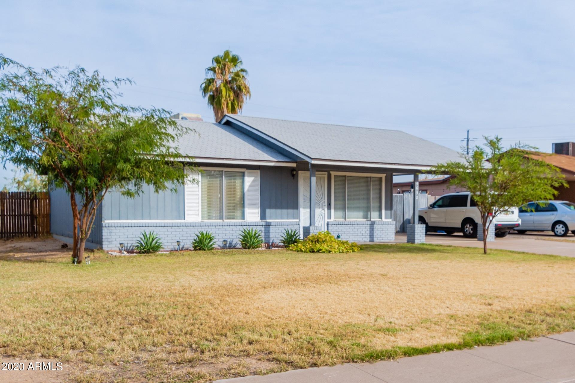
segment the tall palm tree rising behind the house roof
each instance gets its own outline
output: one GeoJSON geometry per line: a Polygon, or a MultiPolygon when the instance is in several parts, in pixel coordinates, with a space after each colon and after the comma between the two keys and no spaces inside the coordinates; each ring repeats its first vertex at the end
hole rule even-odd
{"type": "Polygon", "coordinates": [[[206,79],[200,86],[202,96],[208,96],[208,105],[214,111],[214,119],[220,121],[225,114],[237,114],[244,107],[246,98],[251,97],[248,71],[241,67],[240,56],[229,49],[223,55],[212,59],[212,66],[206,68],[206,79]]]}

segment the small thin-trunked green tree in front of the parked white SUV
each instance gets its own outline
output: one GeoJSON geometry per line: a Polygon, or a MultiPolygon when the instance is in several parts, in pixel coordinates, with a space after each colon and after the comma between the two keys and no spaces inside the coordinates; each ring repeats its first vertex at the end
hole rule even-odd
{"type": "Polygon", "coordinates": [[[550,200],[555,190],[566,185],[557,167],[533,154],[536,148],[515,144],[508,150],[499,137],[484,137],[485,144],[476,146],[462,161],[450,161],[431,169],[435,175],[453,175],[450,185],[466,188],[473,195],[481,214],[483,226],[483,252],[487,254],[487,231],[497,215],[509,207],[527,202],[550,200]]]}

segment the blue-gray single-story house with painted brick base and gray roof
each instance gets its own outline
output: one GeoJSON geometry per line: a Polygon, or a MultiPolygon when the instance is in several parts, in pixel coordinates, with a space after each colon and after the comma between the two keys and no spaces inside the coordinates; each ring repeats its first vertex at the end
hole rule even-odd
{"type": "MultiPolygon", "coordinates": [[[[285,229],[304,237],[329,230],[352,241],[391,241],[393,175],[459,156],[398,130],[240,115],[178,123],[198,133],[175,143],[180,160],[195,158],[202,172],[187,168],[189,181],[175,193],[155,194],[150,187],[130,199],[110,191],[90,246],[117,249],[123,242],[129,248],[143,231],[154,231],[166,249],[176,241],[189,247],[206,230],[218,246],[232,247],[248,227],[262,231],[267,243],[278,243],[285,229]]],[[[57,189],[51,198],[52,232],[70,241],[69,197],[57,189]]]]}

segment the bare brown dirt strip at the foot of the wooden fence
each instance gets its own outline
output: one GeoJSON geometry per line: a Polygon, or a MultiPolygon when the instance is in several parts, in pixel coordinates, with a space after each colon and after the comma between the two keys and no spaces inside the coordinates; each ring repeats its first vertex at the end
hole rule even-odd
{"type": "Polygon", "coordinates": [[[41,261],[69,256],[72,250],[54,238],[14,238],[0,241],[0,260],[41,261]]]}

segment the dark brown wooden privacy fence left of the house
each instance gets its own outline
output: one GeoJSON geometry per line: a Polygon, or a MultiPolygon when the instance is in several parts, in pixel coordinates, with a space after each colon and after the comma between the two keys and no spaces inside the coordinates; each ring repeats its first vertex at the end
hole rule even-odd
{"type": "Polygon", "coordinates": [[[0,192],[0,239],[50,234],[46,192],[0,192]]]}

